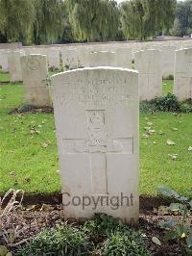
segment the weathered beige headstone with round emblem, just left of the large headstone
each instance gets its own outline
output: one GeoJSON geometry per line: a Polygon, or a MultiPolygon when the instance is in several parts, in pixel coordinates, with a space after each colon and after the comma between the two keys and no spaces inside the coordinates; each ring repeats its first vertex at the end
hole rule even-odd
{"type": "Polygon", "coordinates": [[[28,55],[21,58],[25,101],[35,106],[51,106],[46,88],[48,74],[46,56],[28,55]]]}

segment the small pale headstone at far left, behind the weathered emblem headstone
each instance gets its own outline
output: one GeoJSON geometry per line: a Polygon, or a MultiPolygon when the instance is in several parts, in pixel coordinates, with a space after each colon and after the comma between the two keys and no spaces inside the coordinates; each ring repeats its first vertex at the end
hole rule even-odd
{"type": "Polygon", "coordinates": [[[22,71],[20,58],[24,56],[22,51],[12,51],[8,53],[9,72],[11,74],[11,82],[22,81],[22,71]]]}

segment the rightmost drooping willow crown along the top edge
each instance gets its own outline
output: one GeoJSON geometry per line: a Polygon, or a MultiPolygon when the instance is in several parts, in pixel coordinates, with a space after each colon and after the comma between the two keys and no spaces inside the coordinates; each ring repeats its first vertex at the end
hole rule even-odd
{"type": "Polygon", "coordinates": [[[121,5],[125,38],[149,38],[169,31],[175,18],[176,0],[131,0],[121,5]]]}

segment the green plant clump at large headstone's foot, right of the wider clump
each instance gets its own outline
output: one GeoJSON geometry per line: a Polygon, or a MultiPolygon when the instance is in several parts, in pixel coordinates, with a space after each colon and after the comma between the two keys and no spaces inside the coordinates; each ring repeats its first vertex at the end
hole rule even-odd
{"type": "Polygon", "coordinates": [[[148,256],[151,255],[143,243],[141,234],[123,224],[118,218],[95,215],[84,223],[84,231],[91,237],[103,238],[102,255],[148,256]]]}

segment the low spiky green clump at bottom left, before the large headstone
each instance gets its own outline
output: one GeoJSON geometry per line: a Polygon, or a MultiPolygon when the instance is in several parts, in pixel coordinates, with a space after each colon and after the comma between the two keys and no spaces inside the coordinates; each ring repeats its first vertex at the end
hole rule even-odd
{"type": "Polygon", "coordinates": [[[16,255],[91,255],[93,249],[93,243],[81,229],[64,223],[56,229],[40,232],[31,242],[20,247],[16,255]]]}

